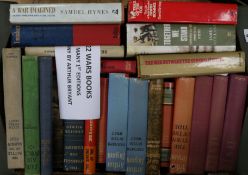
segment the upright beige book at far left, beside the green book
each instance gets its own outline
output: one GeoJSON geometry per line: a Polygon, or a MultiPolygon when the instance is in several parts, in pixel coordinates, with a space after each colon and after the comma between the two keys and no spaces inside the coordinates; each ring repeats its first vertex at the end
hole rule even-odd
{"type": "Polygon", "coordinates": [[[21,49],[4,48],[2,56],[8,168],[24,168],[21,49]]]}

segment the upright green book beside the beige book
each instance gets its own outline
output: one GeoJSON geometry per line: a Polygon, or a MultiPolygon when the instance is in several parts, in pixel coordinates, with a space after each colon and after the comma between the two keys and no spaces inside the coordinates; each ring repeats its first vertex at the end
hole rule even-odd
{"type": "Polygon", "coordinates": [[[40,174],[39,65],[22,57],[25,175],[40,174]]]}

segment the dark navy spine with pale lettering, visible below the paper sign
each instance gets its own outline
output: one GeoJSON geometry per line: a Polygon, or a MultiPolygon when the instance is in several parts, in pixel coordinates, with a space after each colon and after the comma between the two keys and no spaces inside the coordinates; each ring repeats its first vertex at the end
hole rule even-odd
{"type": "Polygon", "coordinates": [[[84,121],[64,120],[64,170],[83,171],[84,121]]]}

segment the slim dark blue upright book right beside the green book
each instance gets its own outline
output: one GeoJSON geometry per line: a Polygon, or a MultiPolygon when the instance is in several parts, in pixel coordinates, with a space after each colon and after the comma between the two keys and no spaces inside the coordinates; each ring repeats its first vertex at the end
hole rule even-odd
{"type": "Polygon", "coordinates": [[[52,174],[52,57],[39,57],[41,175],[52,174]]]}

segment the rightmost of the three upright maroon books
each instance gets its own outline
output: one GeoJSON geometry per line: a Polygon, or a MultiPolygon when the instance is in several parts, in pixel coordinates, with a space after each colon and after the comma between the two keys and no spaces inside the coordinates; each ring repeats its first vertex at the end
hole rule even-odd
{"type": "Polygon", "coordinates": [[[225,121],[219,158],[219,170],[234,171],[247,95],[247,76],[230,75],[225,121]]]}

